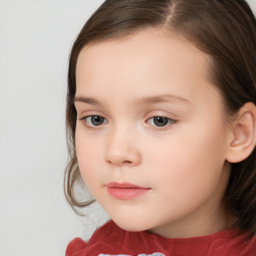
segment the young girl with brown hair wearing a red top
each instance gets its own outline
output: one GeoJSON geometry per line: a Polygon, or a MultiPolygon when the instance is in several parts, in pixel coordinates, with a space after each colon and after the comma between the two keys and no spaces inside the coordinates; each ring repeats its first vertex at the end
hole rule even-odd
{"type": "Polygon", "coordinates": [[[255,70],[244,0],[104,1],[70,53],[65,195],[112,220],[66,255],[256,255],[255,70]]]}

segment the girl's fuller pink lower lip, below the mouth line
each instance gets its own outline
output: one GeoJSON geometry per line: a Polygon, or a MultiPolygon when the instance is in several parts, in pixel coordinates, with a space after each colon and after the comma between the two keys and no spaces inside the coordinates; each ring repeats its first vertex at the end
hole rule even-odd
{"type": "Polygon", "coordinates": [[[107,186],[107,192],[111,196],[117,199],[132,199],[139,195],[142,195],[149,191],[150,188],[143,188],[143,187],[109,187],[107,186]]]}

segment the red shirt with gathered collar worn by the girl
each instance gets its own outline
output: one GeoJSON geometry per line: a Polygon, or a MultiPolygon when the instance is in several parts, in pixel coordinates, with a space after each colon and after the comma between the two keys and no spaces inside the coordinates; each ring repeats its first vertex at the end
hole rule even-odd
{"type": "Polygon", "coordinates": [[[103,254],[152,254],[165,256],[256,256],[256,236],[247,239],[236,228],[191,238],[166,238],[147,231],[131,232],[112,220],[99,227],[88,242],[74,238],[66,248],[66,256],[103,254]]]}

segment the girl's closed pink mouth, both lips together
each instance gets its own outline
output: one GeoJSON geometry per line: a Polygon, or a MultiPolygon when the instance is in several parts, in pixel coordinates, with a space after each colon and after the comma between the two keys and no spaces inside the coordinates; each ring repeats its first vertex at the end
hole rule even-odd
{"type": "Polygon", "coordinates": [[[133,199],[148,192],[150,189],[130,183],[109,182],[106,184],[108,194],[122,200],[133,199]]]}

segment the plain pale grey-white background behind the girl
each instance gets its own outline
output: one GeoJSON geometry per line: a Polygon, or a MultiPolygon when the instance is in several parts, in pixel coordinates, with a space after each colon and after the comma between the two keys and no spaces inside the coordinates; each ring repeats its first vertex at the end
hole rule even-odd
{"type": "Polygon", "coordinates": [[[100,2],[0,0],[1,256],[64,255],[106,219],[77,217],[62,192],[68,52],[100,2]]]}

